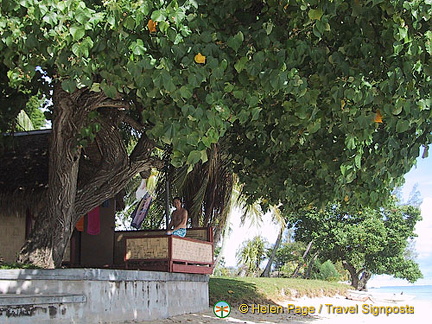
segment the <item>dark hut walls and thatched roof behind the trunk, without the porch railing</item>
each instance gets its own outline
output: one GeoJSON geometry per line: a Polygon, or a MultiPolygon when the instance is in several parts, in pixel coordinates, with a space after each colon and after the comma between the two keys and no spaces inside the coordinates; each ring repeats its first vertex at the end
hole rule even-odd
{"type": "MultiPolygon", "coordinates": [[[[0,257],[14,262],[28,237],[35,217],[46,204],[48,188],[48,139],[50,130],[3,135],[0,149],[0,257]]],[[[95,150],[87,148],[86,154],[95,150]]],[[[96,156],[97,159],[97,156],[96,156]]],[[[84,158],[83,158],[84,160],[84,158]]],[[[87,164],[87,165],[86,165],[87,164]]],[[[90,171],[80,163],[80,176],[90,171]]],[[[77,267],[106,267],[113,264],[115,212],[123,208],[121,199],[108,199],[98,210],[98,231],[75,230],[64,264],[77,267]]]]}

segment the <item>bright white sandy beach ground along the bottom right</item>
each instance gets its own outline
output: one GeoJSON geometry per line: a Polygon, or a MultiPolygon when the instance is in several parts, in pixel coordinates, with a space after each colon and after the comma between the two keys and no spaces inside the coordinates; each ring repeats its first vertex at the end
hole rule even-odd
{"type": "MultiPolygon", "coordinates": [[[[142,324],[213,324],[213,323],[245,323],[245,324],[258,324],[258,323],[293,323],[293,324],[360,324],[360,323],[412,323],[422,324],[431,323],[432,301],[416,301],[411,300],[406,303],[373,303],[371,301],[359,302],[348,300],[343,296],[336,297],[322,297],[322,298],[300,298],[295,300],[288,300],[279,302],[273,306],[273,312],[269,313],[271,308],[269,305],[262,305],[261,312],[253,310],[258,305],[248,305],[248,311],[244,314],[240,312],[239,308],[232,307],[231,313],[226,318],[218,318],[213,313],[213,308],[209,308],[206,312],[196,314],[178,315],[172,318],[167,318],[157,321],[138,322],[142,324]],[[281,305],[282,307],[277,307],[281,305]],[[301,315],[290,314],[287,310],[290,307],[296,307],[294,310],[298,312],[312,312],[315,314],[301,315]],[[374,310],[378,311],[377,306],[384,306],[381,312],[399,312],[399,314],[380,313],[373,315],[374,310]],[[312,309],[314,307],[314,309],[312,309]],[[350,308],[348,308],[350,307],[350,308]],[[413,308],[407,308],[413,307],[413,308]],[[321,312],[319,310],[321,309],[321,312]],[[266,311],[264,313],[264,311],[266,311]],[[414,312],[413,314],[401,314],[401,311],[414,312]],[[343,313],[343,312],[348,313],[343,313]],[[351,311],[352,313],[349,313],[351,311]],[[342,314],[340,314],[342,312],[342,314]]],[[[243,309],[246,309],[243,306],[243,309]]],[[[135,322],[137,323],[137,322],[135,322]]]]}

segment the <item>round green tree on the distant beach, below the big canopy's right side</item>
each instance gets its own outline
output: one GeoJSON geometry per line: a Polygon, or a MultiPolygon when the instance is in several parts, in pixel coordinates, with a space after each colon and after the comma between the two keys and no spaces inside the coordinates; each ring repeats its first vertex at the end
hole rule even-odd
{"type": "Polygon", "coordinates": [[[347,211],[340,205],[299,213],[296,240],[314,241],[320,257],[341,261],[350,273],[351,285],[366,289],[372,274],[389,274],[415,282],[422,277],[418,264],[406,257],[408,239],[421,219],[413,206],[347,211]]]}

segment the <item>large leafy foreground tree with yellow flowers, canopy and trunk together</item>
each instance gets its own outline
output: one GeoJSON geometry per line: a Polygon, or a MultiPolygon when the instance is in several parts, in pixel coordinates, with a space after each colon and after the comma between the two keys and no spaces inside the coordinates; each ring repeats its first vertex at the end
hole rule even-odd
{"type": "Polygon", "coordinates": [[[48,208],[21,260],[58,266],[80,215],[160,166],[163,145],[191,170],[224,137],[264,204],[382,202],[431,140],[430,15],[427,1],[3,0],[2,120],[30,95],[53,102],[48,208]],[[92,139],[101,165],[78,181],[92,139]]]}

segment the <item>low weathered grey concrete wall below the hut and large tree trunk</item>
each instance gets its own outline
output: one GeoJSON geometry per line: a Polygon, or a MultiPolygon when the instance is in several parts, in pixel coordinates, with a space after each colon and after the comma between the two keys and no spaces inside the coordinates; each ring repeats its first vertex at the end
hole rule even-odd
{"type": "Polygon", "coordinates": [[[108,269],[0,270],[0,323],[121,323],[208,307],[206,275],[108,269]]]}

